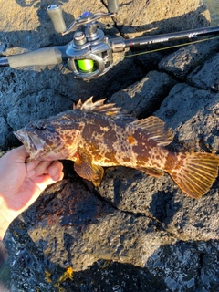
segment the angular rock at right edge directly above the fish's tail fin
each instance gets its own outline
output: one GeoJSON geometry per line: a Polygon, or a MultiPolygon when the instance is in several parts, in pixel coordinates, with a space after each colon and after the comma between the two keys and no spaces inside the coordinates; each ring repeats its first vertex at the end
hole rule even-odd
{"type": "Polygon", "coordinates": [[[178,141],[188,143],[187,151],[190,147],[195,151],[216,152],[218,99],[218,93],[179,83],[154,114],[175,130],[178,141]]]}

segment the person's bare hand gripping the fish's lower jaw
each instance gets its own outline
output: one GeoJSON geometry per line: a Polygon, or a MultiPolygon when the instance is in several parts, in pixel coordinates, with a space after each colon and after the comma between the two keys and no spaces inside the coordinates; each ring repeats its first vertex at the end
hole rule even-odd
{"type": "Polygon", "coordinates": [[[61,162],[28,162],[24,146],[0,158],[0,239],[9,224],[36,201],[47,185],[62,180],[61,162]]]}

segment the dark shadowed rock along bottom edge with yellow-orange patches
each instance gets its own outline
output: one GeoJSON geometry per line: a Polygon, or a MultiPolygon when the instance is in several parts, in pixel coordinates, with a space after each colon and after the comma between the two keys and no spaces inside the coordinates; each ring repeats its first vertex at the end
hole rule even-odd
{"type": "Polygon", "coordinates": [[[15,240],[19,252],[11,270],[13,291],[219,291],[218,241],[162,245],[144,267],[99,258],[84,270],[74,271],[70,263],[59,266],[51,262],[30,239],[15,240]]]}

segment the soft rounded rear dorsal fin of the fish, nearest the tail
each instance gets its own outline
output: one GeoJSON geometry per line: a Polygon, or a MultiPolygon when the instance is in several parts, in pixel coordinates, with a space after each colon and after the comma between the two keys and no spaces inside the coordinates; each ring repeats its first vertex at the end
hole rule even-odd
{"type": "Polygon", "coordinates": [[[149,136],[148,140],[157,141],[158,146],[167,146],[172,142],[172,130],[167,128],[165,123],[154,116],[147,119],[134,120],[133,125],[144,130],[149,136]]]}

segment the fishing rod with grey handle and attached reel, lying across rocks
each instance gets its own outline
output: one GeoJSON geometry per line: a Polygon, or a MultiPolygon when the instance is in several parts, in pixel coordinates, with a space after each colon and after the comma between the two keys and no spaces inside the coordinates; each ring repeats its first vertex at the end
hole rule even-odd
{"type": "Polygon", "coordinates": [[[11,68],[26,66],[46,66],[67,62],[75,78],[89,80],[99,78],[113,66],[112,53],[119,53],[126,47],[170,42],[180,39],[196,39],[198,36],[219,34],[219,26],[210,26],[192,30],[141,36],[124,39],[120,36],[109,38],[101,28],[106,26],[98,21],[102,17],[113,17],[118,13],[118,0],[108,0],[108,13],[85,12],[68,27],[63,19],[60,5],[49,5],[47,14],[55,31],[60,36],[74,32],[73,39],[66,46],[42,47],[23,54],[0,58],[0,67],[11,68]]]}

